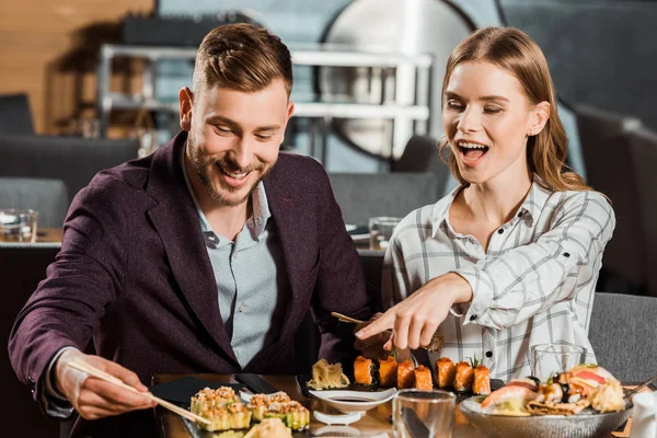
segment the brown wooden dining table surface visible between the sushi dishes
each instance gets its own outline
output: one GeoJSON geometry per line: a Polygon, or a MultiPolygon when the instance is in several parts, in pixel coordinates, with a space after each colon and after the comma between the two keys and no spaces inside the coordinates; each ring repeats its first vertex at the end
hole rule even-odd
{"type": "MultiPolygon", "coordinates": [[[[182,377],[194,377],[196,379],[216,382],[216,383],[239,383],[234,374],[215,374],[215,373],[158,373],[152,378],[152,384],[163,384],[173,382],[182,377]]],[[[339,414],[325,402],[315,399],[307,397],[295,376],[261,376],[265,381],[270,383],[279,391],[285,391],[292,400],[301,402],[306,407],[312,411],[320,411],[326,414],[339,414]]],[[[632,385],[625,385],[631,388],[632,385]]],[[[155,422],[162,438],[194,438],[195,435],[191,431],[192,423],[184,420],[177,414],[166,411],[161,406],[154,410],[155,422]]],[[[356,423],[348,426],[327,426],[320,423],[313,415],[310,417],[309,437],[393,437],[392,431],[392,402],[385,402],[370,411],[356,423]]],[[[609,435],[609,437],[630,437],[632,419],[630,419],[622,430],[618,430],[609,435]]],[[[461,413],[459,405],[454,410],[454,419],[452,428],[452,438],[485,438],[486,434],[475,425],[471,424],[468,418],[461,413]]]]}

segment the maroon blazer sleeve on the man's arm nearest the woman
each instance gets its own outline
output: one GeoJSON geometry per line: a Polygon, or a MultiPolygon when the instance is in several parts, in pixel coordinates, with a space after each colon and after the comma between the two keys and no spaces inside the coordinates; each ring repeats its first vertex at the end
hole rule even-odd
{"type": "Polygon", "coordinates": [[[313,314],[321,333],[320,358],[339,361],[345,370],[349,370],[356,357],[354,324],[338,322],[331,312],[368,320],[373,312],[372,302],[366,293],[358,252],[322,168],[318,172],[318,185],[322,193],[318,199],[322,211],[319,216],[320,260],[313,314]]]}

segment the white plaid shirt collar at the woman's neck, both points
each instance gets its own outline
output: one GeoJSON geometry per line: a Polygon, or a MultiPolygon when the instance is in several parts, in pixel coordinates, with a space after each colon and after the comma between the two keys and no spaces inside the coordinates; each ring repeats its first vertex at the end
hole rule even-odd
{"type": "MultiPolygon", "coordinates": [[[[458,186],[451,191],[449,195],[445,196],[434,205],[434,211],[431,214],[431,237],[435,238],[440,228],[447,226],[449,208],[462,188],[464,188],[463,185],[458,186]]],[[[545,207],[550,195],[552,195],[552,191],[543,187],[543,181],[539,175],[534,174],[531,188],[520,205],[520,208],[518,208],[518,211],[516,211],[516,218],[521,217],[525,222],[531,227],[534,219],[541,215],[541,211],[543,210],[543,207],[545,207]]]]}

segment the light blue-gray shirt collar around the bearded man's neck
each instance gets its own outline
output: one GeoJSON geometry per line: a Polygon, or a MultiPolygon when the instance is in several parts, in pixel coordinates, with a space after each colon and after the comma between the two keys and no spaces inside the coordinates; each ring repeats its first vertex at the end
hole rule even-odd
{"type": "MultiPolygon", "coordinates": [[[[208,221],[208,218],[203,212],[200,205],[198,204],[198,199],[196,199],[196,195],[192,189],[192,183],[189,182],[189,176],[187,175],[187,166],[185,165],[185,151],[187,149],[187,142],[185,142],[185,147],[183,148],[183,153],[181,155],[181,160],[183,163],[183,175],[185,177],[185,185],[187,186],[187,191],[192,196],[192,200],[194,200],[194,206],[196,207],[196,211],[198,212],[198,217],[200,219],[200,230],[204,234],[211,233],[215,235],[221,243],[226,238],[217,235],[212,227],[208,221]]],[[[253,240],[260,240],[260,237],[265,231],[265,227],[267,226],[267,220],[272,217],[272,212],[269,210],[269,203],[267,201],[267,193],[265,192],[265,184],[261,181],[255,186],[255,189],[251,193],[251,207],[253,212],[249,219],[246,219],[246,229],[251,232],[251,237],[253,240]]]]}

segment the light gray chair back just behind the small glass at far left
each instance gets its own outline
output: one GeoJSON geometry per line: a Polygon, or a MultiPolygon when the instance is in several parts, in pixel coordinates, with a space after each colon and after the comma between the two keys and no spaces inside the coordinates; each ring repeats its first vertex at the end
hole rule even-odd
{"type": "Polygon", "coordinates": [[[61,228],[69,205],[61,180],[0,177],[0,208],[31,208],[38,227],[61,228]]]}

